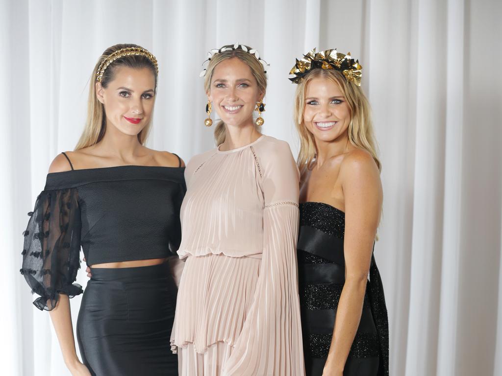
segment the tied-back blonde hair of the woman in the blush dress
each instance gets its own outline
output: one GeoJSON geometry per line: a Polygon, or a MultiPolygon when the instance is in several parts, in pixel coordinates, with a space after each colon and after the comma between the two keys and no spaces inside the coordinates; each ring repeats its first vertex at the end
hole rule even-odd
{"type": "MultiPolygon", "coordinates": [[[[222,48],[224,47],[231,49],[233,45],[223,46],[222,48]]],[[[251,49],[248,46],[245,47],[247,48],[247,50],[251,49]]],[[[229,50],[220,52],[214,55],[211,60],[209,60],[209,64],[207,65],[206,69],[206,75],[204,77],[204,90],[206,91],[206,93],[209,93],[209,90],[211,89],[211,78],[213,76],[214,68],[216,68],[216,66],[223,60],[231,58],[240,59],[242,62],[247,64],[249,68],[251,68],[253,77],[255,77],[258,83],[258,88],[265,95],[265,91],[267,90],[267,76],[265,75],[265,70],[262,63],[260,63],[257,58],[255,58],[248,52],[241,50],[229,50]]],[[[216,142],[216,145],[220,145],[225,141],[225,123],[223,122],[223,120],[218,121],[218,123],[216,124],[216,127],[214,129],[214,141],[216,142]]]]}

